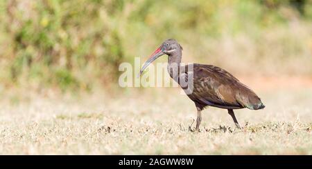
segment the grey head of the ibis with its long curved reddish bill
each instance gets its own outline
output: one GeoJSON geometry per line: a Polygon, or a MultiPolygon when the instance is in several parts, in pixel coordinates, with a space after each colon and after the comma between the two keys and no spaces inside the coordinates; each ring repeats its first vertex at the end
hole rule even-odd
{"type": "Polygon", "coordinates": [[[182,46],[180,46],[175,39],[167,39],[155,50],[155,52],[153,52],[153,54],[150,55],[141,68],[139,76],[141,76],[142,72],[150,65],[150,63],[155,61],[158,57],[161,57],[164,54],[167,54],[170,57],[173,54],[181,52],[181,50],[183,50],[182,46]]]}

